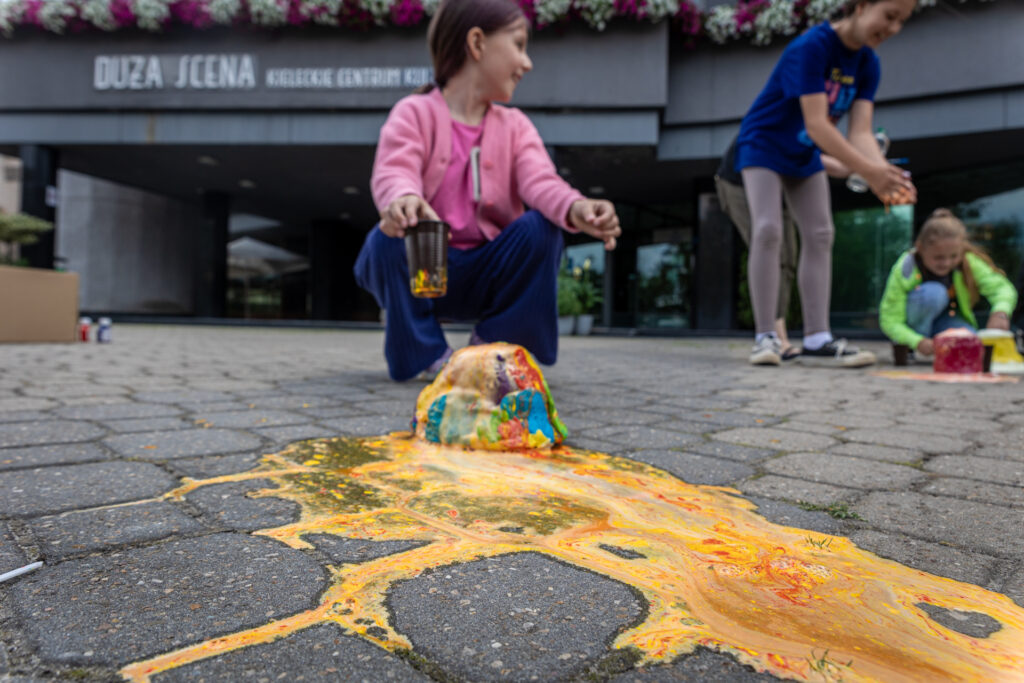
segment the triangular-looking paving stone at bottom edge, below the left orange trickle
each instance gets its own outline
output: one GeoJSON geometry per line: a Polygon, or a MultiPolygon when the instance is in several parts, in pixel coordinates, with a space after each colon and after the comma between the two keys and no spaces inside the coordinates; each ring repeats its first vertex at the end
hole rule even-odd
{"type": "Polygon", "coordinates": [[[303,629],[272,643],[202,659],[153,677],[173,681],[430,681],[387,650],[336,624],[303,629]]]}

